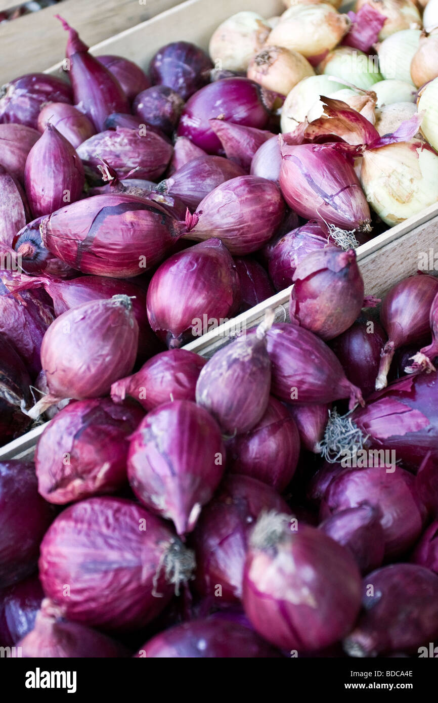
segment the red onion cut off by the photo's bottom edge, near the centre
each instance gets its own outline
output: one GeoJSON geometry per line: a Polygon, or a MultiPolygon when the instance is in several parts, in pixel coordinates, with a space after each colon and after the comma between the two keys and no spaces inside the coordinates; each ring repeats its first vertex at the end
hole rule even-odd
{"type": "Polygon", "coordinates": [[[152,659],[239,659],[281,657],[255,632],[217,618],[193,620],[155,635],[137,654],[152,659]]]}

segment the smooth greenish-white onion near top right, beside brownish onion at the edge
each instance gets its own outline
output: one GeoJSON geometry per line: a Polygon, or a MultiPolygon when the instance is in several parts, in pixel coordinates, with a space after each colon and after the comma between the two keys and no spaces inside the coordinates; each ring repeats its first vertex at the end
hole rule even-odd
{"type": "Polygon", "coordinates": [[[420,43],[420,30],[395,32],[378,48],[380,73],[385,79],[412,83],[411,60],[420,43]]]}

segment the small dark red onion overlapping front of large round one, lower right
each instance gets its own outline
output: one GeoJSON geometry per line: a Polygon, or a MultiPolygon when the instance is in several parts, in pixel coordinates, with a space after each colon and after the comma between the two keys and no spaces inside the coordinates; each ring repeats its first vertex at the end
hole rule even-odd
{"type": "Polygon", "coordinates": [[[385,542],[378,508],[362,503],[340,510],[323,520],[319,529],[352,553],[362,574],[382,564],[385,542]]]}

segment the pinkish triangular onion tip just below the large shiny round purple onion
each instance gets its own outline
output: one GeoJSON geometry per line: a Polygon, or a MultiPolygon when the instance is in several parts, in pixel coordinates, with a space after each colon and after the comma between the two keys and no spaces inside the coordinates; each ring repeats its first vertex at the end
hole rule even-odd
{"type": "Polygon", "coordinates": [[[268,141],[273,134],[266,129],[245,127],[225,120],[209,120],[210,126],[219,137],[227,159],[241,166],[248,173],[252,157],[257,149],[268,141]]]}

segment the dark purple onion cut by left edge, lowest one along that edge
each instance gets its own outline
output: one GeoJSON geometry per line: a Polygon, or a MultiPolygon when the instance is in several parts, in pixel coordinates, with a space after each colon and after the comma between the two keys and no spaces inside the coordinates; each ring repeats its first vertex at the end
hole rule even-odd
{"type": "Polygon", "coordinates": [[[0,593],[1,647],[13,647],[32,630],[43,598],[38,576],[29,576],[0,593]]]}

